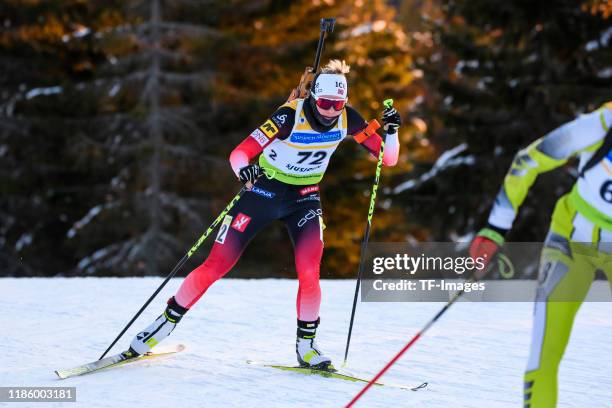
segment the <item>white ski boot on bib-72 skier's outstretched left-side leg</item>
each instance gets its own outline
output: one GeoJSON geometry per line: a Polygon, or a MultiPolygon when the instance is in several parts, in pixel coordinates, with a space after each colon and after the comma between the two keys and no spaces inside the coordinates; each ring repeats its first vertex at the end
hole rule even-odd
{"type": "Polygon", "coordinates": [[[157,343],[172,333],[187,310],[189,309],[176,303],[174,296],[168,299],[168,306],[164,313],[134,337],[130,348],[122,353],[123,356],[128,359],[149,352],[157,343]]]}

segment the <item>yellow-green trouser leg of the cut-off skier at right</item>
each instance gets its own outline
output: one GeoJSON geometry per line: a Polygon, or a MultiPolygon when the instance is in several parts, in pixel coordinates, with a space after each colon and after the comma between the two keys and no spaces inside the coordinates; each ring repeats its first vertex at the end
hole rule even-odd
{"type": "Polygon", "coordinates": [[[592,258],[549,234],[540,262],[533,332],[525,373],[525,408],[554,408],[557,373],[576,312],[595,275],[592,258]]]}

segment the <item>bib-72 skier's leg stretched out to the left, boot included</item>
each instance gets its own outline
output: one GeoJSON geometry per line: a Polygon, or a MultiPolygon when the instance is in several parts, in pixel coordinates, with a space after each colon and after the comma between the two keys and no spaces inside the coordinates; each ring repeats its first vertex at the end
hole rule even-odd
{"type": "Polygon", "coordinates": [[[170,335],[181,317],[191,308],[210,285],[223,277],[236,264],[249,241],[271,219],[270,202],[246,192],[223,220],[210,254],[183,281],[178,292],[168,301],[168,308],[130,344],[129,353],[143,354],[170,335]]]}

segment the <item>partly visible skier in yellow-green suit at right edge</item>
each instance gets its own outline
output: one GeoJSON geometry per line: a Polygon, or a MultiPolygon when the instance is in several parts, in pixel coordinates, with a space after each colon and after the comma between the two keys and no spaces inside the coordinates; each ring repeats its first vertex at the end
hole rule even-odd
{"type": "Polygon", "coordinates": [[[492,259],[536,177],[578,156],[579,177],[557,202],[544,243],[525,373],[525,408],[553,408],[574,316],[597,270],[612,282],[612,102],[553,130],[516,156],[472,257],[492,259]]]}

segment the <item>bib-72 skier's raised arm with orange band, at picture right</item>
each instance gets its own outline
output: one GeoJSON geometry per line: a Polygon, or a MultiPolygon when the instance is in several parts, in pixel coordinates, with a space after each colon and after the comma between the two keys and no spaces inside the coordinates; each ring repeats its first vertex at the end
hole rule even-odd
{"type": "MultiPolygon", "coordinates": [[[[368,129],[368,123],[363,117],[350,106],[346,107],[348,133],[353,139],[363,146],[372,156],[378,158],[382,137],[376,132],[368,129]]],[[[385,139],[385,151],[383,152],[383,165],[395,166],[399,157],[399,139],[397,132],[387,134],[385,139]]]]}

